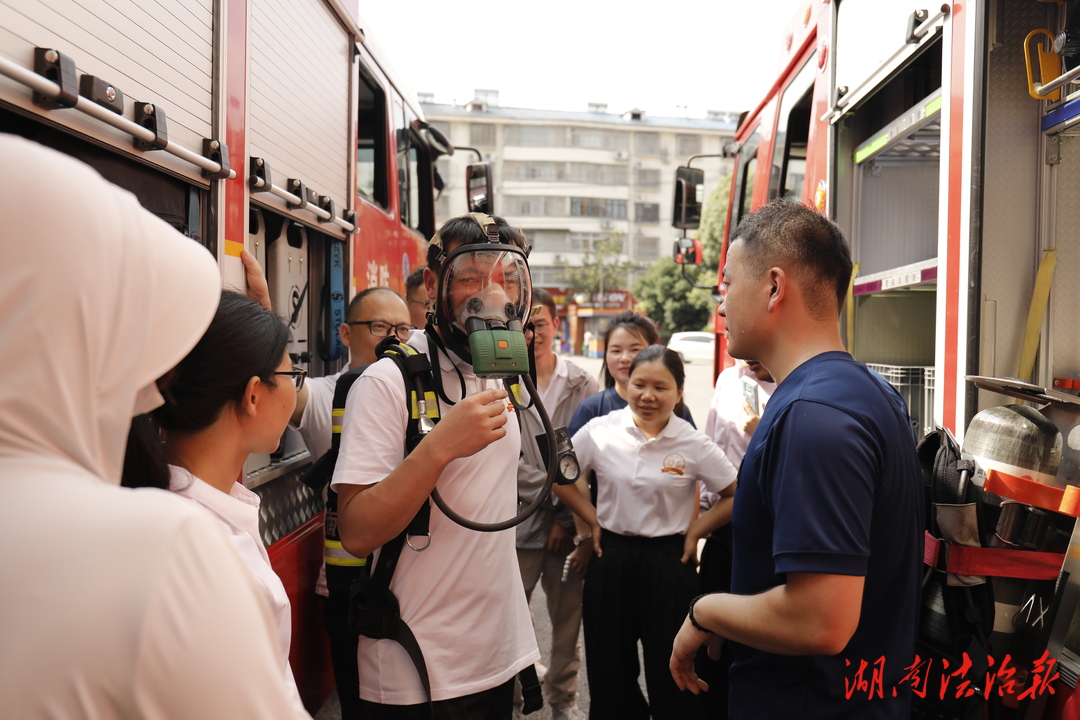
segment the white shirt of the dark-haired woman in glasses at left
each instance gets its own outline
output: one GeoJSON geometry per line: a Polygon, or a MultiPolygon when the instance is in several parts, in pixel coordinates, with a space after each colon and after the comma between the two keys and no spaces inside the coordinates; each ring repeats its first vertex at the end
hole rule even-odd
{"type": "Polygon", "coordinates": [[[293,668],[288,664],[288,648],[293,638],[292,610],[285,586],[270,566],[270,556],[259,535],[259,497],[239,483],[233,483],[229,494],[225,494],[177,465],[168,466],[168,489],[206,508],[221,524],[240,559],[266,594],[278,626],[285,679],[295,685],[293,668]]]}

